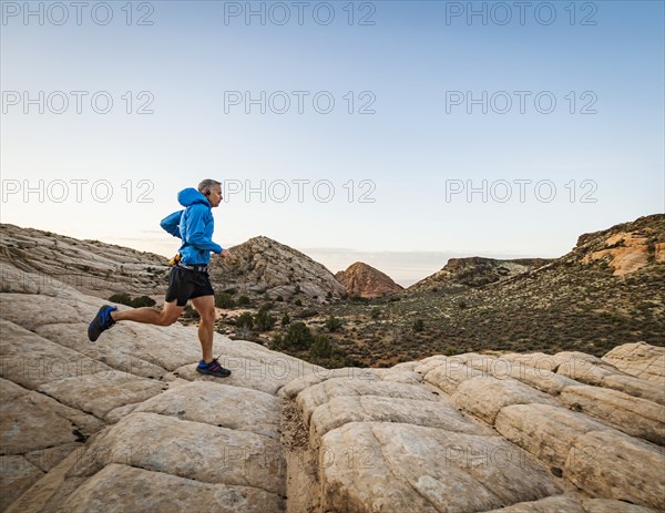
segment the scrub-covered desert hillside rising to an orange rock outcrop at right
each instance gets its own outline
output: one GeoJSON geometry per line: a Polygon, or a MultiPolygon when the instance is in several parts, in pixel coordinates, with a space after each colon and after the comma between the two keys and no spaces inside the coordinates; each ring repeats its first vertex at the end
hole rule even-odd
{"type": "Polygon", "coordinates": [[[443,279],[397,297],[338,305],[334,315],[346,326],[362,319],[339,340],[349,358],[370,366],[480,350],[600,357],[628,342],[665,346],[664,289],[659,214],[583,235],[561,258],[482,287],[443,279]]]}

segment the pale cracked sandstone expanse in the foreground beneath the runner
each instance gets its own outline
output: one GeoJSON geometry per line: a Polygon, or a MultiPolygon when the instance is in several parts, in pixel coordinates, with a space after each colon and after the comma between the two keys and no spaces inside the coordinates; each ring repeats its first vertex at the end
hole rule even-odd
{"type": "Polygon", "coordinates": [[[1,511],[665,509],[657,348],[332,371],[215,335],[219,380],[194,328],[90,343],[102,301],[39,279],[0,294],[1,511]]]}

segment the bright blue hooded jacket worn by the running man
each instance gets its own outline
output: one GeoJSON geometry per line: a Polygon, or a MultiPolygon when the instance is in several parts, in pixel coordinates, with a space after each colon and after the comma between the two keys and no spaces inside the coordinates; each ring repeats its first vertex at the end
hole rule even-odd
{"type": "Polygon", "coordinates": [[[207,265],[211,261],[211,252],[222,253],[222,246],[213,243],[215,219],[211,204],[193,187],[181,191],[177,201],[185,209],[164,217],[160,225],[183,240],[178,252],[184,265],[207,265]]]}

